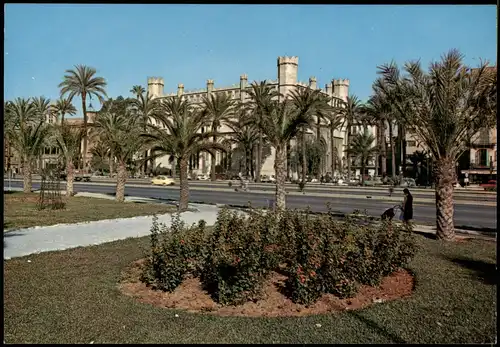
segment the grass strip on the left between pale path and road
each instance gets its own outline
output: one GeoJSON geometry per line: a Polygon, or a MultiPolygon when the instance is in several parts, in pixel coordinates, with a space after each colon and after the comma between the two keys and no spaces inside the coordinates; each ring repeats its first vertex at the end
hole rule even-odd
{"type": "MultiPolygon", "coordinates": [[[[114,200],[72,197],[64,210],[36,209],[39,194],[4,192],[4,231],[61,223],[127,218],[176,211],[175,206],[149,203],[118,203],[114,200]]],[[[65,199],[65,197],[63,197],[65,199]]]]}

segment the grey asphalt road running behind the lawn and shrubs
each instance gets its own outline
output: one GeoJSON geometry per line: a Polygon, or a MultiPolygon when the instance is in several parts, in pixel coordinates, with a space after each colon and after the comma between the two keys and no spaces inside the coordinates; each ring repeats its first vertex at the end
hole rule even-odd
{"type": "MultiPolygon", "coordinates": [[[[135,184],[135,183],[134,183],[135,184]]],[[[22,182],[11,182],[12,187],[22,187],[22,182]]],[[[4,184],[7,187],[7,184],[4,184]]],[[[38,189],[40,184],[33,183],[33,188],[38,189]]],[[[76,183],[76,192],[93,192],[114,194],[115,187],[112,185],[95,185],[92,183],[76,183]]],[[[166,189],[163,187],[126,187],[125,193],[128,196],[139,196],[147,198],[162,198],[178,200],[179,191],[177,189],[166,189]]],[[[366,193],[363,193],[366,194],[366,193]]],[[[274,194],[270,191],[268,194],[256,194],[252,192],[232,192],[232,191],[207,191],[207,190],[191,190],[191,202],[217,203],[226,205],[247,205],[248,202],[255,207],[268,206],[269,199],[273,199],[274,194]]],[[[496,198],[496,197],[495,197],[496,198]]],[[[287,207],[304,209],[307,206],[312,211],[324,212],[327,211],[326,204],[329,202],[331,208],[337,213],[352,213],[353,210],[366,210],[369,215],[380,216],[387,208],[394,204],[389,201],[359,199],[345,197],[318,197],[305,195],[289,195],[287,196],[287,207]]],[[[415,200],[418,200],[415,198],[415,200]]],[[[436,208],[433,203],[414,204],[414,219],[416,223],[430,224],[435,223],[436,208]]],[[[480,206],[480,205],[455,205],[455,226],[496,229],[497,227],[497,211],[496,206],[480,206]]]]}

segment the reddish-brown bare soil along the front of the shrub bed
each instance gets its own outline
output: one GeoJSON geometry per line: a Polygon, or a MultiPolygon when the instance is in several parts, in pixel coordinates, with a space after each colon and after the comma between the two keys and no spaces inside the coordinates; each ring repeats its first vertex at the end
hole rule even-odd
{"type": "Polygon", "coordinates": [[[283,285],[286,276],[273,272],[264,286],[263,297],[258,302],[247,302],[240,306],[220,306],[202,289],[198,278],[187,278],[173,293],[152,290],[139,280],[142,263],[143,260],[134,262],[124,273],[119,285],[122,293],[155,306],[219,316],[286,317],[357,310],[375,302],[410,296],[414,284],[413,276],[400,269],[384,278],[378,287],[361,286],[354,298],[339,299],[334,295],[325,294],[315,304],[306,307],[294,304],[280,293],[279,287],[283,285]]]}

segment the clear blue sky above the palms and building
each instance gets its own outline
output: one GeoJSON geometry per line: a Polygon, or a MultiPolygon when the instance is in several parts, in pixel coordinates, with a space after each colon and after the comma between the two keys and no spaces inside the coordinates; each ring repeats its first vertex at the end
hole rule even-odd
{"type": "Polygon", "coordinates": [[[227,86],[243,73],[277,79],[282,55],[299,56],[300,81],[348,78],[365,100],[376,66],[392,59],[427,66],[458,48],[476,65],[495,63],[497,51],[495,6],[8,4],[5,13],[7,100],[58,98],[76,64],[95,67],[116,97],[148,76],[163,77],[166,92],[210,78],[227,86]]]}

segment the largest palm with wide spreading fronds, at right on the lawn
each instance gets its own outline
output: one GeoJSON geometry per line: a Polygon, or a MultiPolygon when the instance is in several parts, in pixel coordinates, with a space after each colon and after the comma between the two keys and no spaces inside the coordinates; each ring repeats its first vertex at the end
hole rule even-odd
{"type": "Polygon", "coordinates": [[[434,158],[436,234],[453,240],[455,162],[467,150],[471,134],[496,124],[496,68],[463,63],[455,49],[433,62],[429,71],[419,61],[407,62],[405,74],[394,63],[378,67],[377,86],[394,104],[407,126],[415,129],[434,158]],[[493,71],[492,71],[493,70],[493,71]]]}

